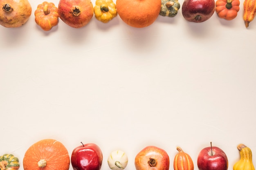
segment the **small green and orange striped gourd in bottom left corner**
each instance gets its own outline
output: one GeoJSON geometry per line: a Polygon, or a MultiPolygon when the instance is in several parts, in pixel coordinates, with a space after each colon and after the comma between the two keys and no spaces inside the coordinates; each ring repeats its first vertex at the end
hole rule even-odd
{"type": "Polygon", "coordinates": [[[0,157],[0,170],[18,170],[19,159],[12,154],[4,154],[0,157]]]}

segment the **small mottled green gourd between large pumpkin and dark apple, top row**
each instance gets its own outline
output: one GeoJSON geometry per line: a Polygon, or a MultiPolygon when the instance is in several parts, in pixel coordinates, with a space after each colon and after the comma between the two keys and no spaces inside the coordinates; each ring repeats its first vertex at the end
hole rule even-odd
{"type": "Polygon", "coordinates": [[[180,9],[180,2],[178,0],[161,0],[160,15],[175,17],[180,9]]]}

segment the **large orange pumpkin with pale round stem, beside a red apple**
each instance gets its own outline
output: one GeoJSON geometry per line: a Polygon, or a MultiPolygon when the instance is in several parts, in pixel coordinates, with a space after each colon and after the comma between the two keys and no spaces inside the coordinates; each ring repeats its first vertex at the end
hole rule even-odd
{"type": "Polygon", "coordinates": [[[43,139],[28,148],[24,170],[68,170],[70,157],[65,146],[54,139],[43,139]]]}

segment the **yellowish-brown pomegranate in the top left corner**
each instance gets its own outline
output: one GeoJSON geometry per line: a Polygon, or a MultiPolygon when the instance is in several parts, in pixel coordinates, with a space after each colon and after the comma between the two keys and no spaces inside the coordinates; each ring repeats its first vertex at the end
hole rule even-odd
{"type": "Polygon", "coordinates": [[[7,28],[22,26],[32,12],[28,0],[0,0],[0,6],[0,24],[7,28]]]}

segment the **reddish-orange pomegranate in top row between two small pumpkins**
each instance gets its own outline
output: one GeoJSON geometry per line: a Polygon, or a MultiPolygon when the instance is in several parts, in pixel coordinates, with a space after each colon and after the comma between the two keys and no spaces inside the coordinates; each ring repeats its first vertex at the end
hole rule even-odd
{"type": "Polygon", "coordinates": [[[60,0],[58,4],[59,18],[73,28],[87,25],[93,17],[91,0],[60,0]]]}

